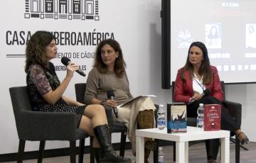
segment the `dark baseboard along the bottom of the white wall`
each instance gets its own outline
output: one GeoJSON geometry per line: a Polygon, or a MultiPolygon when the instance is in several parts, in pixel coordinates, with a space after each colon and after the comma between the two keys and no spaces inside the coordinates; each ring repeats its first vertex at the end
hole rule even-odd
{"type": "MultiPolygon", "coordinates": [[[[159,146],[166,146],[166,145],[172,145],[173,143],[170,141],[159,141],[159,146]]],[[[120,149],[120,143],[113,143],[114,150],[120,149]]],[[[130,142],[126,142],[125,144],[125,150],[132,149],[132,145],[130,142]]],[[[18,150],[18,149],[17,149],[18,150]]],[[[79,147],[76,147],[76,153],[79,153],[79,147]]],[[[90,153],[90,147],[85,146],[85,154],[90,153]]],[[[0,154],[0,162],[12,162],[16,161],[16,156],[18,153],[9,153],[9,154],[0,154]]],[[[54,150],[45,150],[43,152],[43,158],[48,157],[60,157],[60,156],[68,156],[70,154],[69,148],[58,148],[54,150]]],[[[38,158],[38,151],[31,151],[31,152],[24,152],[23,154],[23,160],[26,159],[37,159],[38,158]]]]}

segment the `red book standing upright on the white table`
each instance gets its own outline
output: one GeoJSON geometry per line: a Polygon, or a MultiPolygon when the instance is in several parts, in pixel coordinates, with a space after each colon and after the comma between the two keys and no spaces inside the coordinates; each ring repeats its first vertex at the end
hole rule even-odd
{"type": "Polygon", "coordinates": [[[204,130],[220,130],[221,105],[207,104],[204,108],[204,130]]]}

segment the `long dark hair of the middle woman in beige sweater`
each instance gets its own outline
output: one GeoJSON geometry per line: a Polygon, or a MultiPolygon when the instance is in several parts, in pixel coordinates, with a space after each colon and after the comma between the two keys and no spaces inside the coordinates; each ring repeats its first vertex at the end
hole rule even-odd
{"type": "Polygon", "coordinates": [[[104,45],[110,45],[115,52],[118,52],[118,57],[114,62],[114,74],[117,77],[122,77],[124,74],[126,64],[122,55],[122,50],[119,43],[113,39],[102,40],[96,49],[96,58],[93,67],[95,67],[101,74],[106,74],[108,71],[107,66],[102,61],[101,50],[104,45]]]}

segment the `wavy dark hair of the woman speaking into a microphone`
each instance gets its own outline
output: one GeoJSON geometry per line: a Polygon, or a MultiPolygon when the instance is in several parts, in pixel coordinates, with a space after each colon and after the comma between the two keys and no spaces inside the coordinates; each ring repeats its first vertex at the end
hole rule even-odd
{"type": "Polygon", "coordinates": [[[31,64],[40,64],[48,68],[48,59],[46,58],[46,46],[50,44],[55,37],[48,31],[38,30],[31,36],[26,45],[26,65],[25,72],[28,73],[28,68],[31,64]]]}

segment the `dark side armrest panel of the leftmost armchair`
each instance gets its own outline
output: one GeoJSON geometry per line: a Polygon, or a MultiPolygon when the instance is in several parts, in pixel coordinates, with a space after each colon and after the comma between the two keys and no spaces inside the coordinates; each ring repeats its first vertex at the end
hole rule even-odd
{"type": "Polygon", "coordinates": [[[70,140],[78,132],[87,135],[78,129],[75,113],[22,111],[16,125],[18,137],[25,140],[70,140]]]}

